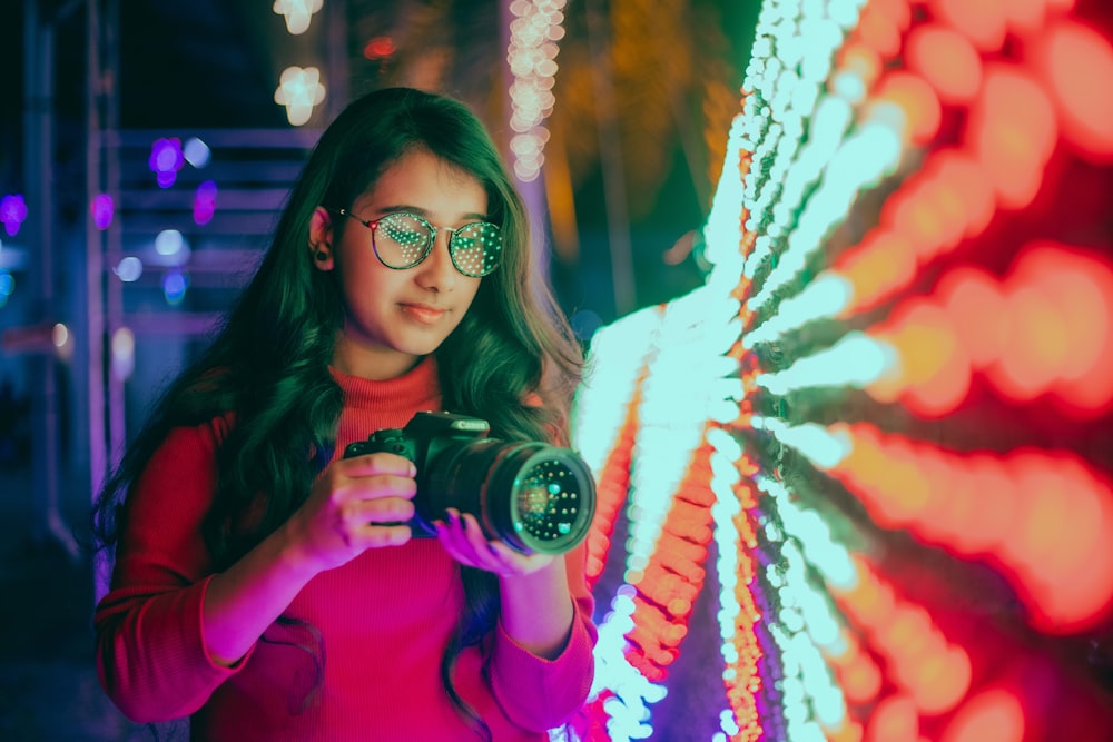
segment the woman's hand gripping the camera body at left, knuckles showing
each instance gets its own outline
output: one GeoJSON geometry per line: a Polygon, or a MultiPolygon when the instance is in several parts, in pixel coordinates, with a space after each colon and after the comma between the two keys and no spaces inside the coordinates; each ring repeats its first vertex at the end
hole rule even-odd
{"type": "Polygon", "coordinates": [[[416,473],[411,461],[390,453],[333,462],[286,522],[290,546],[314,572],[323,572],[368,548],[406,543],[416,473]]]}

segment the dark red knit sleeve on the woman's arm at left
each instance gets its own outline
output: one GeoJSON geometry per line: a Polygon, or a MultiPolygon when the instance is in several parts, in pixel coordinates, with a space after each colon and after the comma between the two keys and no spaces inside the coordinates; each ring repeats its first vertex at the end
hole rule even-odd
{"type": "Polygon", "coordinates": [[[101,685],[135,721],[197,711],[247,660],[225,667],[206,650],[201,606],[211,558],[201,522],[215,482],[214,426],[176,428],[129,494],[93,630],[101,685]]]}

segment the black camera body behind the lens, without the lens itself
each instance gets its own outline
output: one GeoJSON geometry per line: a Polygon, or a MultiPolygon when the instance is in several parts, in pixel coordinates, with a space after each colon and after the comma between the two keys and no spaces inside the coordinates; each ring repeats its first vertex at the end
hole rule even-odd
{"type": "Polygon", "coordinates": [[[404,428],[387,427],[372,433],[366,441],[348,444],[344,458],[387,452],[408,458],[417,468],[417,494],[414,496],[414,517],[406,523],[416,538],[435,537],[432,520],[422,517],[421,507],[427,498],[423,496],[429,487],[426,473],[429,463],[444,449],[485,438],[491,425],[479,417],[453,413],[417,413],[404,428]]]}

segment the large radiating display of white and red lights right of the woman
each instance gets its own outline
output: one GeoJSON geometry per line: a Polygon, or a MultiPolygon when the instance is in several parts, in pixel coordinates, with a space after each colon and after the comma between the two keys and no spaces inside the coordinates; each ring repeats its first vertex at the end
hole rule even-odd
{"type": "Polygon", "coordinates": [[[755,39],[706,284],[577,396],[575,733],[1109,739],[1113,16],[767,0],[755,39]],[[663,713],[705,644],[721,692],[663,713]]]}

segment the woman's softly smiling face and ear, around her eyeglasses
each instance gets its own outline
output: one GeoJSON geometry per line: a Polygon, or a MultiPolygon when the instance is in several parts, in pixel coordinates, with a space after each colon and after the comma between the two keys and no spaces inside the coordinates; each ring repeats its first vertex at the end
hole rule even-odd
{"type": "Polygon", "coordinates": [[[309,249],[318,269],[339,271],[344,327],[333,365],[346,374],[373,379],[404,374],[455,329],[479,290],[482,278],[465,276],[453,265],[446,229],[437,230],[429,256],[412,268],[388,268],[375,257],[372,231],[356,219],[403,211],[455,229],[487,220],[486,192],[470,174],[418,149],[355,200],[355,218],[317,209],[309,249]],[[332,224],[345,218],[343,237],[334,241],[332,224]]]}

